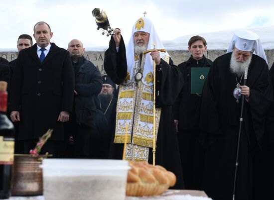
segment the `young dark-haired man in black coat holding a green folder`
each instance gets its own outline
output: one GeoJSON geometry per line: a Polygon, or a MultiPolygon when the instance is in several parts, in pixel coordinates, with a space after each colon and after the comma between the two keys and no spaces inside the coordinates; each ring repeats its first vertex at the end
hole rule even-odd
{"type": "Polygon", "coordinates": [[[181,163],[185,181],[185,189],[201,189],[202,151],[198,143],[199,137],[199,104],[201,94],[191,94],[191,68],[210,67],[212,61],[207,59],[206,40],[193,36],[188,41],[190,58],[178,65],[184,78],[184,86],[172,105],[175,128],[180,148],[181,163]]]}

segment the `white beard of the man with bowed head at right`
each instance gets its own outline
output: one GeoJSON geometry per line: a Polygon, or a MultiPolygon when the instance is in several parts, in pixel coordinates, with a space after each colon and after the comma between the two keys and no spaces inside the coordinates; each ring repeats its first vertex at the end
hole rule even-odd
{"type": "Polygon", "coordinates": [[[238,62],[235,58],[235,53],[233,51],[230,59],[230,71],[233,74],[236,74],[238,77],[241,77],[245,73],[245,68],[249,67],[251,58],[252,54],[246,61],[238,62]]]}

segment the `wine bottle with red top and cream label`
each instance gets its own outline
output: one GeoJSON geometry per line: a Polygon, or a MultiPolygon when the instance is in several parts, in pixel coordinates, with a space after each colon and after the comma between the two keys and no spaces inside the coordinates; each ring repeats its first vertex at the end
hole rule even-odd
{"type": "Polygon", "coordinates": [[[14,157],[14,126],[7,118],[7,83],[0,81],[0,199],[10,197],[11,166],[14,157]]]}

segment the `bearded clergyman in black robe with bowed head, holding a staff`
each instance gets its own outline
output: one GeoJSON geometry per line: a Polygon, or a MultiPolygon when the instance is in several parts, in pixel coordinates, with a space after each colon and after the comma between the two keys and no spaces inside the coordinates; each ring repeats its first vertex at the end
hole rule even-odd
{"type": "Polygon", "coordinates": [[[273,95],[259,36],[245,30],[236,32],[228,53],[213,62],[202,94],[200,128],[207,147],[204,190],[214,200],[233,197],[241,96],[245,103],[235,200],[253,200],[257,190],[254,159],[261,151],[266,114],[273,95]],[[246,67],[248,76],[244,86],[246,67]]]}

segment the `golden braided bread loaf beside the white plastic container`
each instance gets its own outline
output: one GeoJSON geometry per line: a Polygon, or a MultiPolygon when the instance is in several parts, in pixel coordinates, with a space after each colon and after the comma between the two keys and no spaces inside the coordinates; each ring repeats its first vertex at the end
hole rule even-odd
{"type": "Polygon", "coordinates": [[[161,195],[176,183],[176,176],[165,168],[147,162],[129,162],[127,196],[161,195]]]}

